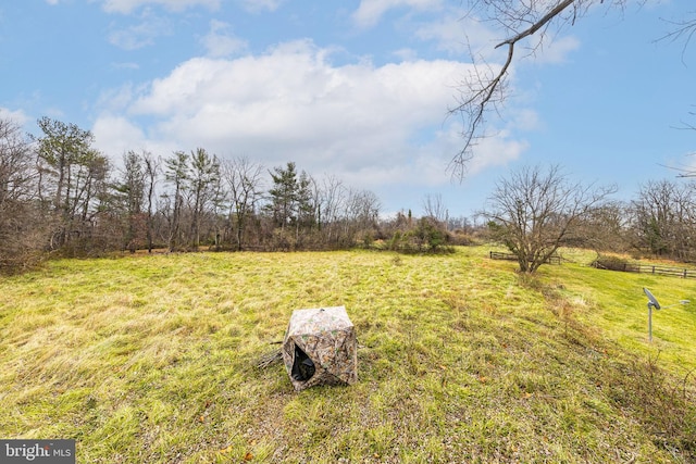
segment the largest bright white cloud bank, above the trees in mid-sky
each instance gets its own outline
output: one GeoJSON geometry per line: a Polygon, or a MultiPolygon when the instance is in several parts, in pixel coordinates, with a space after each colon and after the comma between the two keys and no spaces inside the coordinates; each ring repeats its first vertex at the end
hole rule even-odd
{"type": "MultiPolygon", "coordinates": [[[[110,110],[94,131],[100,148],[114,154],[140,146],[166,149],[159,152],[164,155],[203,147],[266,166],[295,161],[356,187],[449,183],[445,168],[461,139],[446,111],[452,85],[470,65],[420,60],[337,66],[330,59],[309,41],[259,57],[191,59],[145,90],[105,96],[110,110]],[[147,125],[138,129],[135,121],[147,125]]],[[[492,147],[476,166],[504,163],[524,148],[506,138],[492,147]]]]}

